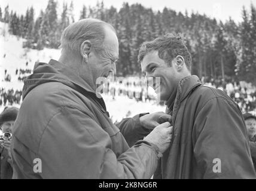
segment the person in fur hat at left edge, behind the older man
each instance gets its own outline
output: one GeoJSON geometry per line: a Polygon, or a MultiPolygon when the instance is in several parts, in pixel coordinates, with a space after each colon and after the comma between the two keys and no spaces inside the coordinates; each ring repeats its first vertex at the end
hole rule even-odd
{"type": "MultiPolygon", "coordinates": [[[[14,122],[17,118],[19,109],[17,107],[5,107],[0,115],[0,128],[2,133],[12,133],[14,122]]],[[[11,179],[13,176],[13,167],[11,161],[10,145],[11,141],[0,142],[0,179],[11,179]]]]}

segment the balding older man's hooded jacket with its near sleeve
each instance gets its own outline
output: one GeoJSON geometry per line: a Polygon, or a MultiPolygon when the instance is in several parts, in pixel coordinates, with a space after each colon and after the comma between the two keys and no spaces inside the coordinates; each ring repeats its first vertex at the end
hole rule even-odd
{"type": "MultiPolygon", "coordinates": [[[[138,116],[124,125],[130,143],[148,133],[138,116]]],[[[157,168],[156,146],[129,147],[103,99],[54,60],[36,64],[26,79],[13,134],[13,178],[150,178],[157,168]]]]}

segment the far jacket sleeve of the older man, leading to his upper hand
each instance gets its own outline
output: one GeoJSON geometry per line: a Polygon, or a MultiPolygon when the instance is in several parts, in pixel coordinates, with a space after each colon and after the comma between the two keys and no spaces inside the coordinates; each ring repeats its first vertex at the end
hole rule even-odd
{"type": "Polygon", "coordinates": [[[138,140],[142,140],[152,130],[144,128],[139,123],[139,116],[135,115],[133,118],[125,118],[121,122],[115,124],[120,129],[129,146],[133,146],[138,140]]]}

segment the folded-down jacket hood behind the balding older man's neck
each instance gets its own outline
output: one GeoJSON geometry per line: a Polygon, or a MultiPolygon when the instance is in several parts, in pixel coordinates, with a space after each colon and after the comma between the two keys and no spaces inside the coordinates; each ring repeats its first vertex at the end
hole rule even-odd
{"type": "MultiPolygon", "coordinates": [[[[65,67],[65,65],[59,63],[59,61],[51,59],[48,64],[42,62],[35,63],[33,74],[29,75],[24,81],[22,90],[23,100],[29,91],[47,82],[60,82],[75,90],[80,89],[96,94],[95,90],[93,90],[86,81],[80,78],[74,70],[65,67]]],[[[100,94],[97,94],[97,96],[100,96],[100,94]]]]}

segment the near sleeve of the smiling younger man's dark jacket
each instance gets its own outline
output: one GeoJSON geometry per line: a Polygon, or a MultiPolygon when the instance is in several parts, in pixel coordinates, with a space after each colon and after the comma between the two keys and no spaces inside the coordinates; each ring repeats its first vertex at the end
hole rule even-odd
{"type": "Polygon", "coordinates": [[[230,100],[215,97],[194,122],[194,156],[202,178],[255,178],[242,113],[230,100]]]}

